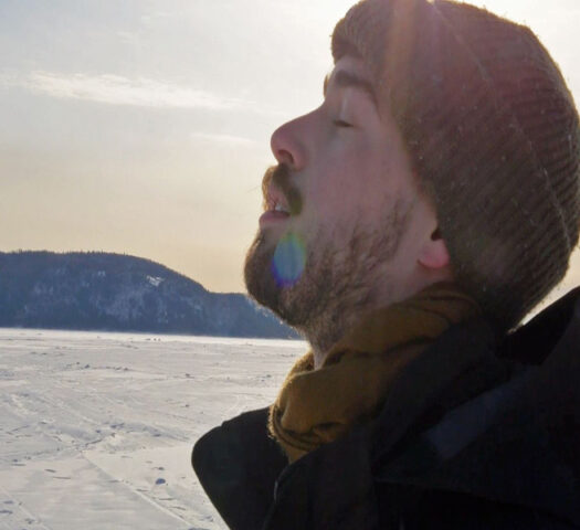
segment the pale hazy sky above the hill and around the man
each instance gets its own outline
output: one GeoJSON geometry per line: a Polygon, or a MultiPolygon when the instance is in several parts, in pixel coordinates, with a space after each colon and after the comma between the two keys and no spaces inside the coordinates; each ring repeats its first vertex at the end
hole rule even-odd
{"type": "MultiPolygon", "coordinates": [[[[270,135],[320,104],[351,3],[0,0],[0,251],[127,253],[243,290],[270,135]]],[[[530,25],[580,102],[578,0],[472,3],[530,25]]]]}

